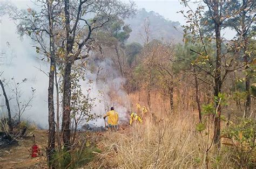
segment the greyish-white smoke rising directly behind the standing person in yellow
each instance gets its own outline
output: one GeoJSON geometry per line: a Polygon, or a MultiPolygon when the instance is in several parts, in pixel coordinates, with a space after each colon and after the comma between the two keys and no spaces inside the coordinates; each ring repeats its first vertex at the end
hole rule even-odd
{"type": "MultiPolygon", "coordinates": [[[[122,121],[127,121],[127,111],[129,111],[130,105],[127,93],[123,89],[125,78],[120,77],[110,59],[98,60],[94,64],[101,71],[99,73],[94,71],[86,75],[86,79],[93,81],[92,95],[97,97],[92,112],[103,116],[109,111],[110,107],[114,107],[114,110],[118,112],[119,121],[121,123],[122,121]]],[[[103,118],[98,118],[97,121],[92,121],[91,123],[103,126],[104,120],[103,118]]]]}

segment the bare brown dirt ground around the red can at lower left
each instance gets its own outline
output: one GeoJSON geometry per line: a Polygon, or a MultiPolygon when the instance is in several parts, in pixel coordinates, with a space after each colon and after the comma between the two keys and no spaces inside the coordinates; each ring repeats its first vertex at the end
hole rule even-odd
{"type": "Polygon", "coordinates": [[[31,157],[33,137],[17,139],[18,145],[0,150],[0,168],[48,168],[45,150],[48,142],[46,130],[36,130],[35,142],[39,146],[41,156],[31,157]]]}

